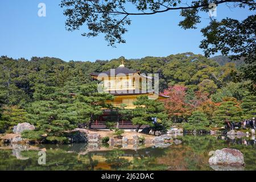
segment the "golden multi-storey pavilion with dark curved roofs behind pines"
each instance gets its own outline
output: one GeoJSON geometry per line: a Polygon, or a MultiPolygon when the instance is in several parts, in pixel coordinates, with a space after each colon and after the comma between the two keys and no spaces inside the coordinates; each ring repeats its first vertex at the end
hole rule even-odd
{"type": "MultiPolygon", "coordinates": [[[[134,109],[136,106],[133,105],[133,102],[137,100],[138,96],[142,95],[156,100],[168,98],[168,96],[158,94],[152,89],[152,80],[154,80],[152,77],[126,68],[123,61],[118,68],[101,73],[90,73],[90,75],[101,81],[102,92],[110,93],[114,96],[113,101],[106,101],[106,103],[115,107],[121,107],[121,104],[125,104],[125,109],[134,109]]],[[[93,127],[104,127],[104,117],[109,115],[111,115],[110,110],[104,110],[104,115],[93,124],[93,127]]],[[[123,126],[123,128],[135,127],[130,121],[122,121],[119,126],[123,126]],[[124,123],[126,123],[127,127],[124,126],[124,123]]]]}

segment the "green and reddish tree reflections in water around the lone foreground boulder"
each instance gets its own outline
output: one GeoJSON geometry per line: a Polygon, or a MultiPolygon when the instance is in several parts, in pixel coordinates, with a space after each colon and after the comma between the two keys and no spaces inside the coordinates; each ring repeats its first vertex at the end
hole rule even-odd
{"type": "Polygon", "coordinates": [[[158,163],[166,164],[171,170],[209,170],[209,152],[228,147],[237,148],[243,153],[245,169],[256,168],[256,146],[253,140],[247,140],[251,145],[245,146],[242,144],[244,139],[221,140],[210,135],[185,135],[180,139],[183,144],[169,147],[166,156],[159,158],[158,163]]]}

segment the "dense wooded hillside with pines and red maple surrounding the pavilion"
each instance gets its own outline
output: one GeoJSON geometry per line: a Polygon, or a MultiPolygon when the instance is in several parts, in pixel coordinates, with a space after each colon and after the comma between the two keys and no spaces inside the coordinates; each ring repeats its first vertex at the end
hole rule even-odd
{"type": "MultiPolygon", "coordinates": [[[[65,130],[90,124],[102,114],[102,107],[112,107],[104,100],[113,96],[97,93],[97,81],[89,73],[117,68],[121,59],[65,62],[53,57],[0,57],[0,133],[29,122],[36,130],[24,132],[24,137],[65,142],[65,130]]],[[[255,115],[255,87],[240,77],[242,65],[242,60],[207,59],[191,52],[125,60],[127,68],[159,73],[159,90],[170,96],[164,107],[158,105],[161,109],[154,111],[164,116],[164,125],[179,122],[191,130],[220,127],[226,118],[239,122],[255,115]]],[[[146,101],[141,98],[141,102],[146,101]]],[[[137,125],[151,122],[147,118],[154,115],[152,109],[141,108],[120,112],[137,125]]]]}

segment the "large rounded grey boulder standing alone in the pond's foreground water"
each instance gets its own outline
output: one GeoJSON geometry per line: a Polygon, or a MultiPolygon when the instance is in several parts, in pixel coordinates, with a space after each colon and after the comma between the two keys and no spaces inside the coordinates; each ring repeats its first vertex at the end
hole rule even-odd
{"type": "Polygon", "coordinates": [[[239,150],[233,148],[222,148],[216,150],[214,155],[209,159],[210,165],[230,165],[230,166],[243,166],[243,154],[239,150]]]}

